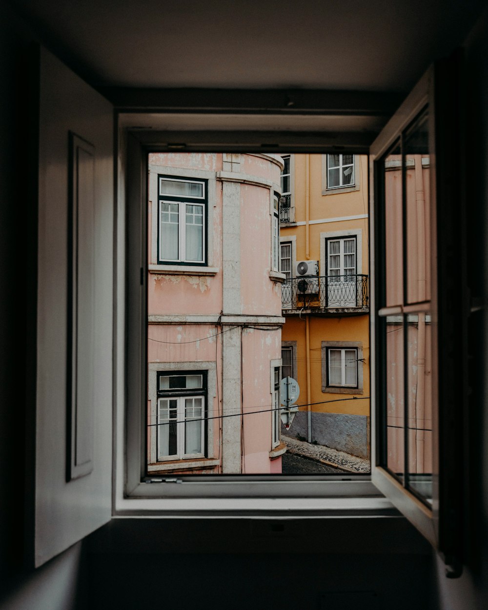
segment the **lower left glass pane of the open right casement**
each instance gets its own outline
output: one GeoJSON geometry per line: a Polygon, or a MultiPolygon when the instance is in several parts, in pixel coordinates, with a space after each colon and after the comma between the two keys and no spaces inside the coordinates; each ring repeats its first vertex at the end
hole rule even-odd
{"type": "MultiPolygon", "coordinates": [[[[382,318],[384,320],[384,318],[382,318]]],[[[404,475],[403,316],[386,318],[386,465],[404,475]]]]}

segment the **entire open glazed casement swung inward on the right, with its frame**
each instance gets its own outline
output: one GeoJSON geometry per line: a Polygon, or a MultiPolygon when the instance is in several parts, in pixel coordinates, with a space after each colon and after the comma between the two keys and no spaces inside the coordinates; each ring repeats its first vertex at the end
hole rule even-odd
{"type": "Polygon", "coordinates": [[[465,361],[455,68],[432,68],[370,149],[372,481],[443,553],[451,575],[462,559],[465,361]],[[453,282],[455,306],[445,292],[453,282]]]}

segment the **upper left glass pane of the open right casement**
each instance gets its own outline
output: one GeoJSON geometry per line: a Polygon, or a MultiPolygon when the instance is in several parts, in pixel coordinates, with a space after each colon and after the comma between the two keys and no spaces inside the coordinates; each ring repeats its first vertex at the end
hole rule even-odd
{"type": "Polygon", "coordinates": [[[397,145],[384,160],[386,306],[403,303],[401,154],[397,145]]]}

